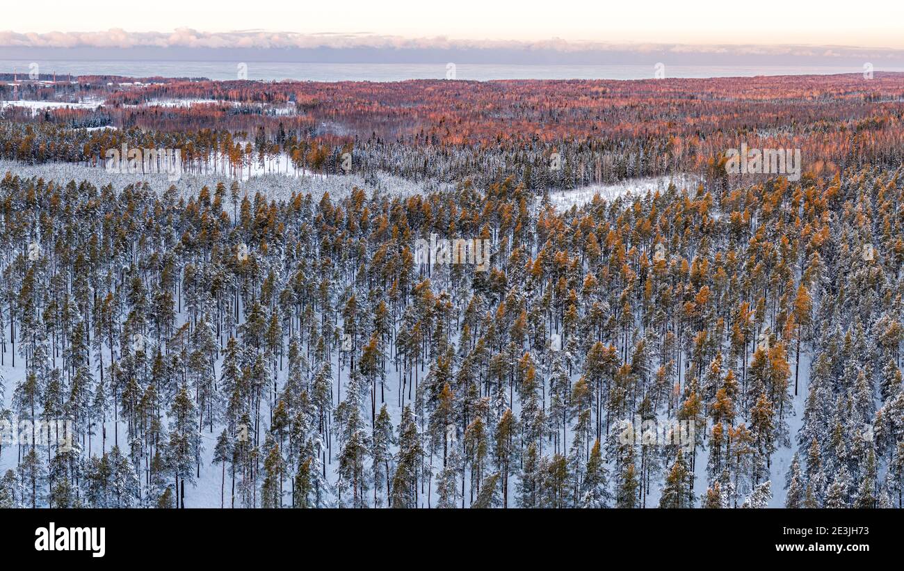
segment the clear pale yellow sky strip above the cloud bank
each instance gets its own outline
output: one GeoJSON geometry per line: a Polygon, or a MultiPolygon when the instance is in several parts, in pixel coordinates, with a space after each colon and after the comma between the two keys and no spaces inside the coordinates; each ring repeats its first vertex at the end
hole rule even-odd
{"type": "Polygon", "coordinates": [[[4,6],[16,33],[267,30],[408,38],[567,42],[814,44],[904,48],[904,2],[792,0],[154,0],[89,9],[60,0],[4,6]]]}

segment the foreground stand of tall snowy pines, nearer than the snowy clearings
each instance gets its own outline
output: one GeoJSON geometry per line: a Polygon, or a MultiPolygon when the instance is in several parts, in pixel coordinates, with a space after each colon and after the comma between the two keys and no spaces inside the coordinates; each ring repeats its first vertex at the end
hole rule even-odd
{"type": "Polygon", "coordinates": [[[556,209],[11,168],[0,506],[900,507],[902,179],[556,209]]]}

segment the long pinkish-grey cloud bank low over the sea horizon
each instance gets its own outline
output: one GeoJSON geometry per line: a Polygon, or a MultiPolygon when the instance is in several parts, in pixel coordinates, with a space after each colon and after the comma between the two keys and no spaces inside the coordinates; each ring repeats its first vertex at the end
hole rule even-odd
{"type": "Polygon", "coordinates": [[[700,63],[788,63],[814,65],[879,61],[904,67],[904,50],[855,46],[675,44],[566,42],[552,38],[537,42],[461,40],[443,36],[406,38],[373,33],[290,33],[240,30],[206,33],[180,28],[172,33],[130,33],[121,28],[103,32],[0,32],[0,59],[25,59],[39,52],[44,57],[123,59],[234,58],[236,51],[250,57],[278,61],[424,61],[455,55],[458,61],[614,63],[669,57],[672,61],[700,63]],[[228,53],[228,55],[227,55],[228,53]]]}

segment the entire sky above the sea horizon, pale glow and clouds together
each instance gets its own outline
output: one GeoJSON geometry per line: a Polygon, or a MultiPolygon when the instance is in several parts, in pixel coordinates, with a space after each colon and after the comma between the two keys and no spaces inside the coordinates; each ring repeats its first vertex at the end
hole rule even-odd
{"type": "Polygon", "coordinates": [[[419,61],[457,51],[476,61],[611,62],[668,51],[689,63],[902,65],[902,23],[904,2],[887,0],[154,0],[99,9],[29,0],[4,6],[0,59],[35,50],[123,59],[264,50],[307,61],[419,61]]]}

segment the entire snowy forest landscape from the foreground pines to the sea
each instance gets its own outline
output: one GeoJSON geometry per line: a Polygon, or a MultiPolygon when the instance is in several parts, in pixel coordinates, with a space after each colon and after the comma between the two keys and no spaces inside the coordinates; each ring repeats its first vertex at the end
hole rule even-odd
{"type": "Polygon", "coordinates": [[[0,79],[0,507],[904,505],[904,75],[0,79]]]}

